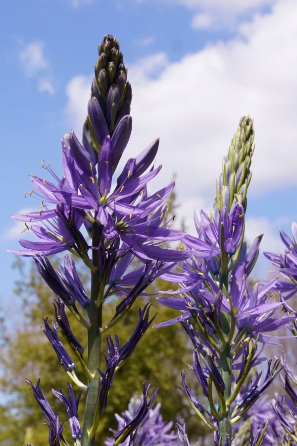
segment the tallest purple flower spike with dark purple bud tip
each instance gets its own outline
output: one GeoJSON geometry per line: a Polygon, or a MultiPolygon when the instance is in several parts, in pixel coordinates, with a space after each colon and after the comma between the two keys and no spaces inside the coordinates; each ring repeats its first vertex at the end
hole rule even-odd
{"type": "MultiPolygon", "coordinates": [[[[153,141],[137,157],[121,162],[132,129],[131,99],[131,85],[127,81],[119,43],[106,35],[99,45],[82,141],[73,131],[64,136],[63,176],[57,177],[43,162],[42,166],[53,179],[32,175],[33,189],[29,194],[41,201],[40,211],[13,216],[25,223],[33,239],[20,240],[23,249],[12,252],[33,257],[38,272],[57,297],[54,300],[55,322],[52,318],[49,324],[49,318],[44,319],[42,329],[68,377],[87,392],[81,428],[77,417],[79,398],[75,400],[71,386],[68,385],[69,397],[62,390],[53,390],[66,408],[76,445],[94,444],[99,416],[107,406],[116,371],[131,356],[154,319],[149,318],[150,305],[139,309],[137,326],[122,347],[117,336],[113,341],[108,335],[109,328],[121,321],[154,279],[169,273],[178,262],[191,255],[172,248],[171,242],[180,245],[185,237],[183,231],[171,229],[166,221],[166,199],[174,183],[153,194],[148,193],[148,183],[161,169],[153,165],[159,141],[153,141]],[[170,242],[170,247],[164,247],[164,241],[170,242]],[[65,255],[59,270],[49,262],[48,256],[62,251],[69,251],[89,268],[90,295],[69,254],[65,255]],[[116,297],[114,315],[103,325],[103,307],[109,296],[116,297]],[[71,329],[70,313],[88,331],[88,352],[71,329]],[[59,333],[73,351],[76,363],[59,333]],[[105,367],[100,360],[103,335],[107,336],[105,367]],[[77,367],[83,372],[82,381],[75,374],[77,367]]],[[[58,445],[61,441],[65,444],[58,417],[49,407],[39,383],[34,387],[29,382],[49,423],[49,443],[58,445]]],[[[130,438],[129,444],[133,444],[132,439],[155,396],[154,389],[147,401],[148,389],[145,385],[143,402],[117,434],[117,444],[117,439],[122,442],[127,438],[130,438]]]]}

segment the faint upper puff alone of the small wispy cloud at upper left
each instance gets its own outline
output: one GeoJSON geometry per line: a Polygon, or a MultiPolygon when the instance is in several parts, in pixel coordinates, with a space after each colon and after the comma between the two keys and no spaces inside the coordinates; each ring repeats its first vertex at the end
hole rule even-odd
{"type": "Polygon", "coordinates": [[[28,77],[48,68],[49,62],[44,55],[44,42],[37,40],[27,45],[21,43],[18,56],[22,68],[28,77]]]}

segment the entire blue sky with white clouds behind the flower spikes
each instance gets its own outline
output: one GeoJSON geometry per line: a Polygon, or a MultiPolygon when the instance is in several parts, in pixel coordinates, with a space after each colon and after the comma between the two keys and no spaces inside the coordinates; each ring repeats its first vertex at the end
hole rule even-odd
{"type": "Polygon", "coordinates": [[[46,160],[60,173],[60,140],[86,114],[97,47],[120,41],[132,83],[127,156],[161,137],[156,187],[177,174],[180,214],[212,204],[215,178],[241,115],[254,117],[247,237],[297,219],[297,3],[295,0],[27,0],[1,5],[1,285],[4,309],[22,227],[39,209],[28,174],[46,160]]]}

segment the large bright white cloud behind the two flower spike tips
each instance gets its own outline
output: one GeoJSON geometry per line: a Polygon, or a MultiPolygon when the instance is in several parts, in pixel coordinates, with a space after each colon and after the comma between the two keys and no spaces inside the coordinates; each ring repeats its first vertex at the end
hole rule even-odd
{"type": "MultiPolygon", "coordinates": [[[[297,2],[283,0],[271,13],[241,25],[230,42],[175,63],[160,53],[129,66],[133,131],[125,158],[160,136],[157,162],[164,167],[156,187],[176,172],[185,211],[195,203],[208,211],[222,157],[240,117],[250,113],[256,135],[250,192],[297,185],[296,41],[297,2]],[[152,78],[155,72],[159,75],[152,78]]],[[[90,82],[91,77],[77,76],[67,86],[67,114],[78,134],[90,82]]],[[[192,216],[187,211],[189,221],[192,216]]]]}

